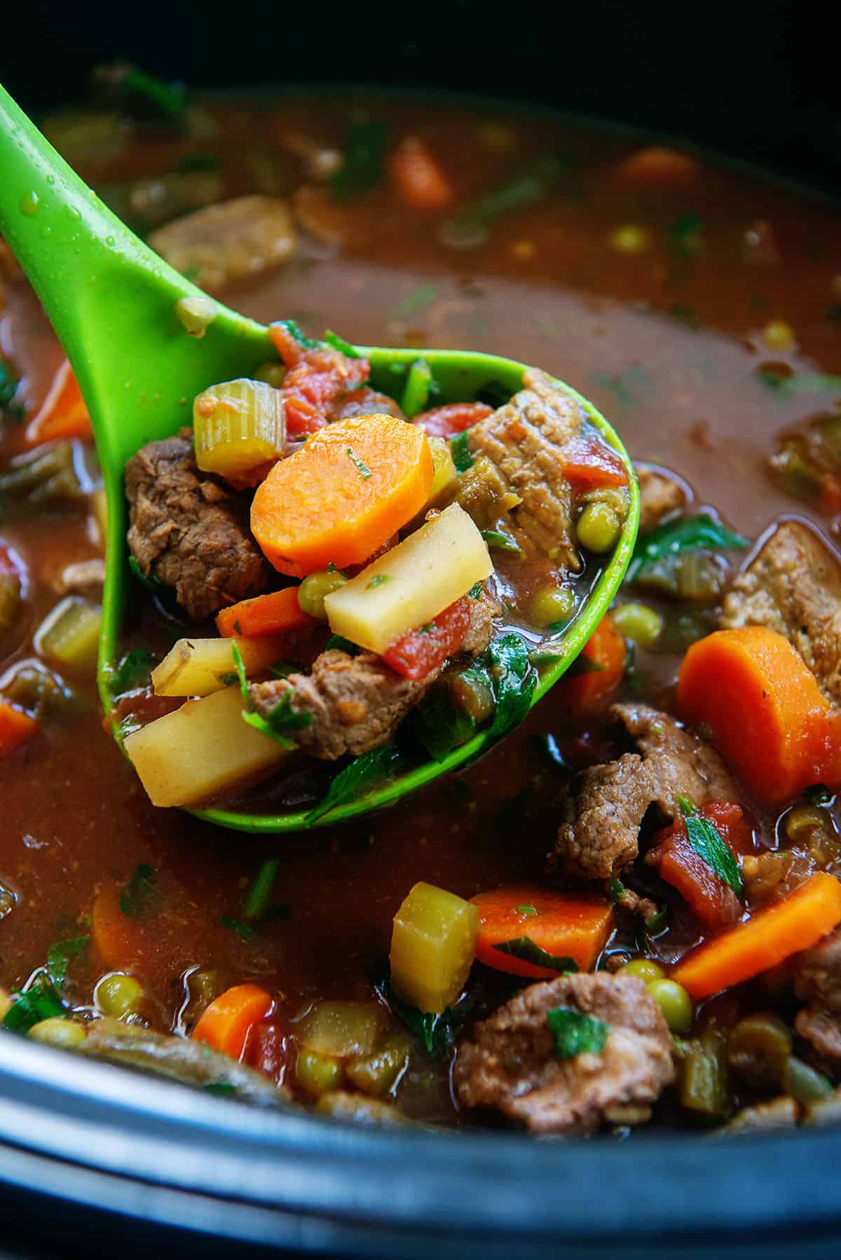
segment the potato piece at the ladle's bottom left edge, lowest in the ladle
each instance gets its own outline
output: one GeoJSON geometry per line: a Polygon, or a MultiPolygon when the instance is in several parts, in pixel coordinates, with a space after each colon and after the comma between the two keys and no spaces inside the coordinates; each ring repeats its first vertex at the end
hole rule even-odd
{"type": "Polygon", "coordinates": [[[188,701],[126,736],[125,750],[153,805],[197,805],[295,756],[242,721],[242,694],[226,687],[188,701]]]}

